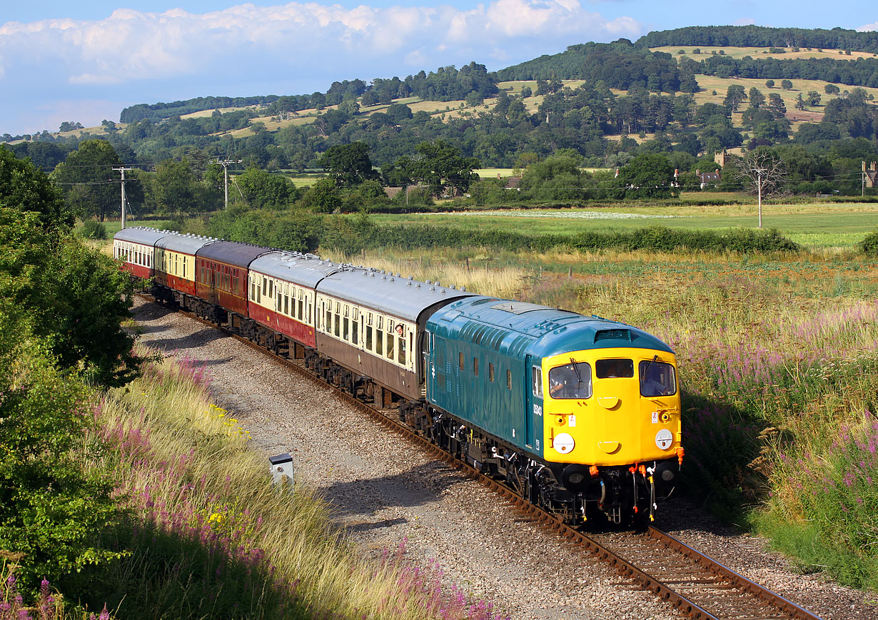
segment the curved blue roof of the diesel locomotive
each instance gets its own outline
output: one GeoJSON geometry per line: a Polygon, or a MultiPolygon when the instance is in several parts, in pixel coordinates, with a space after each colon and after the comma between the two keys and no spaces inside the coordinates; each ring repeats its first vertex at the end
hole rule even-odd
{"type": "Polygon", "coordinates": [[[430,317],[428,329],[445,338],[491,342],[497,350],[515,357],[615,347],[673,353],[655,336],[630,325],[496,297],[479,296],[452,303],[430,317]]]}

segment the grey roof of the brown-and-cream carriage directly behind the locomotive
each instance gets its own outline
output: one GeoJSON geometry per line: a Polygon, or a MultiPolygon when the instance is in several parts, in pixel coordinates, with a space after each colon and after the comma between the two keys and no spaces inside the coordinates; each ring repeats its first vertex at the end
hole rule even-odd
{"type": "Polygon", "coordinates": [[[317,290],[409,321],[417,321],[424,310],[436,304],[474,296],[464,289],[386,274],[371,267],[344,267],[327,275],[317,290]]]}

